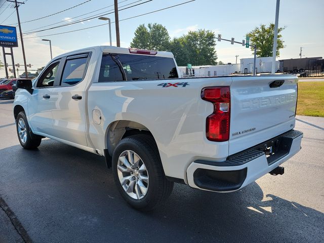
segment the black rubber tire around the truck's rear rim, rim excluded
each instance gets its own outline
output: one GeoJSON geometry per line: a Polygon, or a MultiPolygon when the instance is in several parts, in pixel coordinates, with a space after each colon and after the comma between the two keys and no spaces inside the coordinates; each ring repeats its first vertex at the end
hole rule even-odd
{"type": "Polygon", "coordinates": [[[157,146],[152,136],[149,135],[132,135],[118,143],[112,156],[112,174],[121,196],[133,208],[140,211],[150,211],[163,204],[173,190],[174,183],[166,179],[157,146]],[[132,150],[140,156],[149,175],[147,193],[141,199],[129,196],[118,178],[118,158],[126,150],[132,150]]]}

